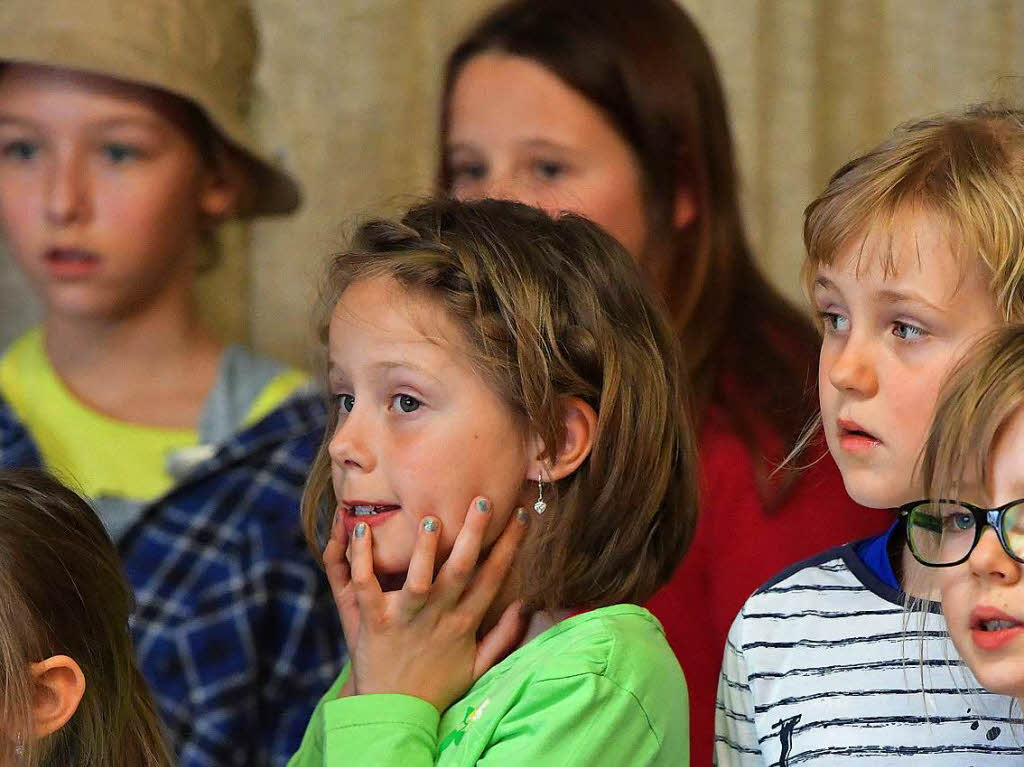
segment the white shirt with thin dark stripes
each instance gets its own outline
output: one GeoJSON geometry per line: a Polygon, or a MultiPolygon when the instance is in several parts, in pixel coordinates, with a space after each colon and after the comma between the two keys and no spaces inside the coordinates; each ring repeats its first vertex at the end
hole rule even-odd
{"type": "Polygon", "coordinates": [[[716,764],[1024,764],[1020,706],[981,688],[938,605],[904,599],[854,545],[755,592],[722,661],[716,764]]]}

